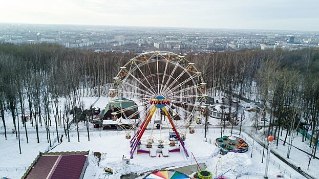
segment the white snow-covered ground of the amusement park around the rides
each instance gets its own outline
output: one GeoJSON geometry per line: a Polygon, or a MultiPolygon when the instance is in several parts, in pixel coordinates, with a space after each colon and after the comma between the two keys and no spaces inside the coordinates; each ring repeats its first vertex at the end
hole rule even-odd
{"type": "MultiPolygon", "coordinates": [[[[215,99],[219,99],[216,97],[215,99]]],[[[89,108],[91,105],[94,107],[100,107],[103,109],[105,105],[110,101],[109,97],[85,97],[82,99],[83,108],[89,108]]],[[[62,99],[61,99],[62,103],[62,99]]],[[[255,121],[255,112],[249,112],[245,110],[246,106],[256,107],[253,103],[240,103],[242,106],[240,107],[240,114],[243,113],[243,130],[244,128],[253,129],[253,124],[255,121]]],[[[63,109],[62,109],[63,114],[63,109]]],[[[239,115],[241,116],[241,115],[239,115]]],[[[260,117],[258,117],[259,119],[260,117]]],[[[30,122],[27,122],[29,143],[26,143],[26,135],[25,129],[22,125],[20,125],[20,139],[22,144],[22,154],[19,154],[18,150],[18,140],[15,138],[15,134],[13,134],[13,122],[10,114],[6,114],[6,125],[8,129],[8,140],[4,139],[3,135],[3,124],[0,121],[0,158],[2,162],[0,163],[0,177],[1,176],[9,176],[11,178],[20,178],[28,166],[33,162],[39,151],[44,152],[48,149],[49,143],[47,143],[47,135],[44,126],[39,126],[39,136],[40,143],[37,143],[35,127],[31,126],[30,122]]],[[[209,118],[209,122],[212,125],[220,124],[220,120],[209,118]]],[[[21,123],[20,123],[21,124],[21,123]]],[[[261,163],[262,160],[262,146],[260,146],[257,142],[254,142],[254,146],[252,149],[252,139],[248,137],[245,133],[242,132],[243,139],[245,139],[249,145],[250,149],[246,153],[228,153],[227,155],[219,156],[217,154],[218,148],[215,146],[214,141],[216,138],[220,137],[220,129],[219,128],[209,128],[207,135],[207,142],[204,139],[203,128],[201,126],[196,126],[196,132],[194,135],[187,135],[185,145],[188,152],[193,152],[197,157],[200,163],[205,163],[207,169],[210,171],[215,171],[215,174],[221,174],[222,172],[230,169],[229,172],[225,174],[227,178],[236,178],[236,176],[246,173],[246,172],[254,172],[257,176],[253,175],[243,175],[239,178],[261,178],[264,173],[265,163],[261,163]],[[251,158],[251,151],[253,151],[253,157],[251,158]],[[219,158],[220,157],[220,158],[219,158]],[[217,167],[216,167],[217,166],[217,167]],[[215,170],[217,169],[217,170],[215,170]],[[216,172],[217,171],[217,172],[216,172]]],[[[59,134],[61,135],[63,131],[62,125],[58,127],[59,134]]],[[[89,161],[90,164],[87,168],[86,174],[84,178],[100,178],[100,174],[104,167],[112,167],[117,173],[110,176],[110,178],[119,178],[121,174],[126,173],[144,173],[147,171],[151,171],[154,169],[161,169],[165,167],[176,168],[181,166],[187,166],[190,164],[195,164],[195,161],[192,158],[186,158],[184,153],[171,153],[169,158],[150,158],[147,154],[135,154],[134,159],[131,160],[131,165],[122,164],[122,155],[124,154],[129,157],[129,141],[125,139],[124,131],[100,131],[99,129],[93,128],[92,124],[90,124],[90,142],[88,142],[86,125],[84,122],[79,123],[79,131],[80,131],[80,142],[77,142],[76,128],[75,125],[71,125],[70,130],[70,143],[66,139],[63,138],[63,142],[57,145],[51,151],[78,151],[78,150],[90,150],[89,161]],[[96,159],[94,158],[92,152],[101,152],[102,153],[102,161],[100,162],[100,166],[97,166],[96,159]]],[[[238,131],[234,129],[235,135],[238,134],[238,131]]],[[[248,131],[247,131],[248,132],[248,131]]],[[[259,132],[262,132],[260,130],[259,132]]],[[[50,127],[50,135],[51,140],[56,140],[56,129],[54,120],[52,121],[52,126],[50,127]]],[[[168,135],[168,130],[163,130],[164,136],[165,133],[168,135]]],[[[225,133],[222,135],[229,135],[229,129],[226,129],[225,133]]],[[[283,133],[283,137],[285,134],[283,133]]],[[[257,137],[260,137],[257,135],[257,137]]],[[[304,149],[303,143],[301,141],[300,136],[297,136],[294,139],[293,145],[304,149]]],[[[55,142],[53,145],[56,145],[55,142]]],[[[285,156],[287,153],[287,146],[282,146],[282,142],[280,141],[280,147],[276,150],[282,156],[285,156]]],[[[267,150],[265,150],[265,153],[267,150]]],[[[295,148],[292,148],[290,159],[292,163],[295,165],[301,164],[302,169],[306,169],[308,157],[306,154],[298,151],[295,148]],[[302,156],[302,159],[301,157],[302,156]]],[[[308,163],[307,163],[308,164],[308,163]]],[[[318,167],[318,160],[313,159],[311,161],[310,169],[308,170],[310,174],[318,177],[319,172],[316,171],[316,167],[318,167]]],[[[306,171],[306,172],[308,172],[306,171]]],[[[299,173],[295,172],[293,169],[288,167],[286,164],[281,162],[278,158],[271,154],[270,165],[269,165],[269,176],[275,177],[278,173],[282,172],[285,178],[304,178],[299,173]]],[[[270,177],[270,178],[271,178],[270,177]]],[[[318,177],[319,178],[319,177],[318,177]]]]}

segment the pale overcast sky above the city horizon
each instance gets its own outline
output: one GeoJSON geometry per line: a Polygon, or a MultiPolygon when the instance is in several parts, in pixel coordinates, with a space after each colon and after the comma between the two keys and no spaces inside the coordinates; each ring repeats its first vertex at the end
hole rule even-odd
{"type": "Polygon", "coordinates": [[[319,1],[0,0],[0,22],[319,31],[319,1]]]}

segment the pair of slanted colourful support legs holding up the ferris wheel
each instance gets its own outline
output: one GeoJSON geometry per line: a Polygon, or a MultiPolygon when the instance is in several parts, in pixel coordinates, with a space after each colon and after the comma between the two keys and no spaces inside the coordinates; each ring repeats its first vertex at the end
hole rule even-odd
{"type": "MultiPolygon", "coordinates": [[[[151,108],[151,110],[148,111],[148,114],[146,115],[145,120],[143,121],[143,123],[141,124],[140,128],[138,129],[138,131],[135,133],[134,137],[132,138],[132,140],[131,140],[131,147],[132,147],[132,149],[131,149],[131,151],[130,151],[131,159],[133,159],[133,155],[134,155],[134,152],[135,152],[135,150],[136,150],[136,148],[137,148],[137,145],[138,145],[138,143],[140,142],[140,139],[142,138],[143,133],[144,133],[144,131],[145,131],[145,129],[146,129],[148,123],[151,121],[151,119],[152,119],[152,117],[153,117],[153,115],[154,115],[156,109],[157,109],[157,107],[156,107],[156,106],[153,106],[153,107],[151,108]]],[[[177,138],[178,138],[178,141],[180,142],[181,146],[183,147],[183,150],[184,150],[184,152],[185,152],[186,157],[188,157],[189,154],[188,154],[188,152],[187,152],[187,149],[186,149],[186,147],[185,147],[185,145],[184,145],[184,142],[182,141],[181,137],[179,136],[179,133],[178,133],[177,130],[176,130],[176,127],[175,127],[175,125],[174,125],[174,122],[173,122],[172,118],[169,116],[169,114],[168,114],[168,112],[167,112],[167,110],[166,110],[165,107],[163,107],[162,109],[163,109],[163,111],[164,111],[165,116],[166,116],[167,119],[169,120],[169,123],[171,123],[172,128],[173,128],[173,131],[175,132],[175,134],[176,134],[176,136],[177,136],[177,138]]]]}

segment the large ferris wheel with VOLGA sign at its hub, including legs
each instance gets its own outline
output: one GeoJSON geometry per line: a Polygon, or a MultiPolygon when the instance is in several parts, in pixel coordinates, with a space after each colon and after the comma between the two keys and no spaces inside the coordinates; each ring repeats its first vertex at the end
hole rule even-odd
{"type": "Polygon", "coordinates": [[[164,51],[142,53],[120,68],[109,94],[111,119],[137,146],[184,146],[206,113],[206,83],[195,64],[164,51]]]}

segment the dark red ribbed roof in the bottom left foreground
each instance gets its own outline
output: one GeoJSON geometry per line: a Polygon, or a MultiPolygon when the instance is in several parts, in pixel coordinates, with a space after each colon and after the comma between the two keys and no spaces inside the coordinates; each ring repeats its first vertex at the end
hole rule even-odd
{"type": "Polygon", "coordinates": [[[78,179],[88,166],[89,151],[40,153],[22,179],[78,179]]]}

